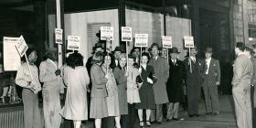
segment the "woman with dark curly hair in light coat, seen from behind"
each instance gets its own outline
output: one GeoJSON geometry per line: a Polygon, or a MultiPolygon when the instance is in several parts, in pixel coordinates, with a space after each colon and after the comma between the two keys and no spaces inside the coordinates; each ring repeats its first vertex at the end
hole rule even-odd
{"type": "Polygon", "coordinates": [[[88,120],[87,91],[90,79],[87,69],[83,67],[80,53],[69,55],[67,65],[63,72],[67,96],[60,114],[65,119],[72,120],[74,128],[80,128],[81,121],[88,120]]]}

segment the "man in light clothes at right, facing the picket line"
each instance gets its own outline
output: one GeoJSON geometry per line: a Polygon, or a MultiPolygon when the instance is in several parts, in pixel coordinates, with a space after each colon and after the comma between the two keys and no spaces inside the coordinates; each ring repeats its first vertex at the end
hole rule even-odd
{"type": "Polygon", "coordinates": [[[237,59],[233,66],[232,95],[238,128],[251,128],[251,78],[253,66],[250,52],[238,42],[235,47],[237,59]]]}

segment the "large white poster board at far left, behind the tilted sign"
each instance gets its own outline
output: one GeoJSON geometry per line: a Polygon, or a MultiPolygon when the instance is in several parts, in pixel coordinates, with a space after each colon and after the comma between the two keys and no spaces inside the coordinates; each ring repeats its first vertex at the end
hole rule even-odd
{"type": "Polygon", "coordinates": [[[5,71],[17,70],[21,65],[16,45],[19,37],[4,37],[4,69],[5,71]]]}

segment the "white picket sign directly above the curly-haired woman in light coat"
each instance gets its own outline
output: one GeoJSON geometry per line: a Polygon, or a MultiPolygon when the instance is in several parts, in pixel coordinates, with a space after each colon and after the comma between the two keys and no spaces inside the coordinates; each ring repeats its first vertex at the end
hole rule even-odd
{"type": "Polygon", "coordinates": [[[68,36],[68,49],[80,50],[80,37],[68,36]]]}

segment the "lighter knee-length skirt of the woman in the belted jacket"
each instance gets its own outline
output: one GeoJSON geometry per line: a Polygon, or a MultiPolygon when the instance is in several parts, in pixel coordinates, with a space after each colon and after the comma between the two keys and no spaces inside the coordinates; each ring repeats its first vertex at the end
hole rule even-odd
{"type": "Polygon", "coordinates": [[[108,117],[106,98],[91,97],[90,118],[101,119],[108,117]]]}

